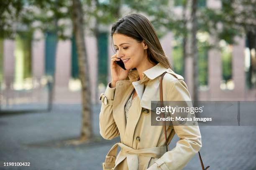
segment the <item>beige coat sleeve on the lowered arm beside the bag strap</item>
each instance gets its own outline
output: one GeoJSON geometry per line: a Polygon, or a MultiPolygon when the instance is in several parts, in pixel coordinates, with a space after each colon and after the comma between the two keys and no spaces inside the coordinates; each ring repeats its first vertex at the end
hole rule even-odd
{"type": "MultiPolygon", "coordinates": [[[[164,80],[163,80],[164,81],[164,80]]],[[[191,101],[187,85],[183,80],[173,80],[168,83],[168,97],[166,101],[191,101]]],[[[176,147],[164,153],[161,158],[148,170],[182,170],[202,147],[201,134],[198,125],[174,126],[179,137],[176,147]]]]}

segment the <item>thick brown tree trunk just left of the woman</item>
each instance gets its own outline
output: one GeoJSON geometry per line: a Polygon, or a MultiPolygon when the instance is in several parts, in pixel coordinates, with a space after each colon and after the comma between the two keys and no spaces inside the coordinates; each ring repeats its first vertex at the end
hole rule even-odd
{"type": "Polygon", "coordinates": [[[80,0],[72,0],[73,29],[77,44],[79,77],[82,83],[82,129],[80,140],[92,138],[89,67],[84,40],[83,11],[80,0]]]}

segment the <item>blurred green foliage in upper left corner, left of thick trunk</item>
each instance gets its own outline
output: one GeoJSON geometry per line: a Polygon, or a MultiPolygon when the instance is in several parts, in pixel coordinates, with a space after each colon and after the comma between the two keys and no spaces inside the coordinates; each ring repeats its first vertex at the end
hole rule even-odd
{"type": "Polygon", "coordinates": [[[64,30],[70,26],[59,22],[70,18],[69,0],[7,0],[0,4],[0,37],[14,38],[18,31],[56,30],[60,38],[67,38],[64,30]]]}

